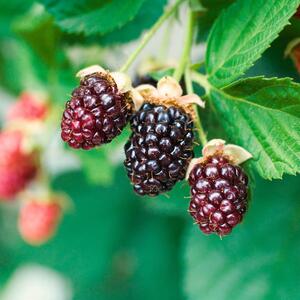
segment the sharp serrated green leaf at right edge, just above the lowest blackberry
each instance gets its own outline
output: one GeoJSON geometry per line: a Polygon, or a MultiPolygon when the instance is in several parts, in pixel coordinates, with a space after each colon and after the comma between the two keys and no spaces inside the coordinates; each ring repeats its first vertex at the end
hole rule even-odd
{"type": "Polygon", "coordinates": [[[266,178],[300,172],[300,85],[285,79],[249,78],[209,94],[230,141],[253,155],[266,178]]]}

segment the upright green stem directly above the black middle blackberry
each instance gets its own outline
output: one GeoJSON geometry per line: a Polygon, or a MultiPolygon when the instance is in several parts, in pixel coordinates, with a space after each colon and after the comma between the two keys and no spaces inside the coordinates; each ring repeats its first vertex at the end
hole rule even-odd
{"type": "Polygon", "coordinates": [[[187,28],[186,28],[186,36],[184,40],[184,48],[183,52],[179,61],[177,68],[173,74],[173,77],[179,81],[184,73],[184,70],[187,64],[190,61],[190,53],[192,49],[193,43],[193,33],[194,33],[194,13],[191,9],[188,12],[188,21],[187,21],[187,28]]]}

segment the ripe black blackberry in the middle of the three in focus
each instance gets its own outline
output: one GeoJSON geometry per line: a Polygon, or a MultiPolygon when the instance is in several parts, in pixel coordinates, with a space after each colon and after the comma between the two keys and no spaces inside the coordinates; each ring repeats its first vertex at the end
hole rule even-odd
{"type": "Polygon", "coordinates": [[[193,158],[193,122],[181,108],[145,103],[131,119],[124,165],[134,190],[156,196],[184,179],[193,158]]]}

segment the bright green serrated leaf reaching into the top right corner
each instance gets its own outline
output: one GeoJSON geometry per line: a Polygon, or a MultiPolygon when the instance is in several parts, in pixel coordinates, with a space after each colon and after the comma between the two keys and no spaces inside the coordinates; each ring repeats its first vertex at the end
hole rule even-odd
{"type": "Polygon", "coordinates": [[[299,4],[299,0],[238,0],[232,4],[209,36],[209,81],[223,87],[244,74],[288,24],[299,4]]]}

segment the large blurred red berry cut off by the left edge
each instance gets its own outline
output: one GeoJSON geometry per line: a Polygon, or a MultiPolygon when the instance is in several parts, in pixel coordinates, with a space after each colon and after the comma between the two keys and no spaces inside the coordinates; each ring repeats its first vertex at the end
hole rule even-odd
{"type": "Polygon", "coordinates": [[[0,199],[14,198],[37,173],[36,155],[25,153],[22,142],[18,131],[0,133],[0,199]]]}

